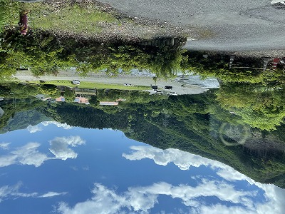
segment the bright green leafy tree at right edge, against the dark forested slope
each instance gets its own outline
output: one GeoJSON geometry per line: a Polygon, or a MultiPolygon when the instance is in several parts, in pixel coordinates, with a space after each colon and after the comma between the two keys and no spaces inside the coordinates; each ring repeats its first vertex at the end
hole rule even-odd
{"type": "Polygon", "coordinates": [[[233,111],[244,123],[261,130],[275,130],[285,117],[284,88],[260,84],[227,84],[217,91],[222,108],[233,111]]]}

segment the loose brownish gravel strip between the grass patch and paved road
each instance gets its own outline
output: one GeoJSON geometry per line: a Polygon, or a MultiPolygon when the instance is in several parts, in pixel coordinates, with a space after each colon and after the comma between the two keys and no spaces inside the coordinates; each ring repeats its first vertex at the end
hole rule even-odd
{"type": "Polygon", "coordinates": [[[102,4],[92,0],[47,0],[44,4],[51,4],[55,10],[70,2],[80,4],[81,6],[95,6],[101,11],[113,14],[118,21],[114,23],[101,22],[99,26],[102,28],[100,33],[88,32],[88,34],[75,34],[72,31],[51,31],[52,34],[61,37],[74,37],[76,39],[95,39],[100,42],[109,41],[126,41],[138,42],[142,40],[150,40],[160,37],[195,37],[199,35],[196,29],[191,27],[180,27],[175,24],[168,23],[156,19],[148,19],[142,16],[129,16],[118,9],[114,9],[110,4],[102,4]]]}

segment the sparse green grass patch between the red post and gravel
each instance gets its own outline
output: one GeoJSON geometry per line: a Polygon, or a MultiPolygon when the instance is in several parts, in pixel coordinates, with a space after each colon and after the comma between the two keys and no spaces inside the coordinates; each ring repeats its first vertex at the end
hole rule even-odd
{"type": "Polygon", "coordinates": [[[30,26],[34,29],[69,31],[76,34],[100,33],[100,23],[113,23],[117,19],[112,14],[99,11],[95,6],[78,4],[53,5],[36,2],[29,4],[30,26]]]}

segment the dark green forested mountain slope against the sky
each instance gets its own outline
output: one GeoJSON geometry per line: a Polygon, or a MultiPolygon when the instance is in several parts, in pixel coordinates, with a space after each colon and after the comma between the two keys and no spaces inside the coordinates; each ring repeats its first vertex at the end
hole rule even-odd
{"type": "MultiPolygon", "coordinates": [[[[133,99],[136,102],[120,102],[118,106],[46,103],[35,98],[10,99],[1,101],[1,108],[9,115],[4,114],[5,117],[1,118],[1,123],[6,124],[2,125],[4,128],[1,131],[14,130],[11,127],[15,127],[15,123],[9,122],[9,118],[15,119],[18,111],[26,111],[21,113],[25,115],[19,123],[21,128],[31,123],[31,118],[37,118],[34,121],[38,123],[53,118],[70,126],[117,129],[136,141],[162,149],[177,148],[220,161],[261,183],[274,183],[285,188],[283,123],[270,130],[254,128],[239,115],[239,111],[247,109],[247,106],[226,108],[228,105],[221,105],[220,93],[221,89],[214,89],[199,95],[150,98],[141,102],[140,99],[133,99]],[[36,111],[29,111],[31,109],[36,111]],[[38,112],[46,117],[31,115],[38,112]]],[[[279,98],[283,96],[281,92],[274,94],[279,98]]],[[[265,115],[282,113],[284,108],[282,103],[277,102],[279,98],[268,102],[266,108],[254,109],[265,115]],[[274,103],[277,107],[269,111],[274,103]]],[[[262,117],[261,114],[256,115],[262,117]]]]}

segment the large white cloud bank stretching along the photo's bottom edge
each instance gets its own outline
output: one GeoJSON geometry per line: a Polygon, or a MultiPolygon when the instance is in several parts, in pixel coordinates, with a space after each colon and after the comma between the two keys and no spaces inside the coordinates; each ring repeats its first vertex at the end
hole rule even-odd
{"type": "MultiPolygon", "coordinates": [[[[274,185],[270,185],[270,188],[270,193],[281,190],[274,185]]],[[[130,187],[123,193],[116,193],[115,190],[95,183],[92,193],[92,198],[76,203],[73,207],[64,202],[59,203],[58,213],[149,213],[159,203],[160,195],[181,200],[185,210],[191,210],[191,213],[281,214],[284,210],[284,205],[279,203],[284,200],[284,190],[274,195],[274,198],[279,198],[278,202],[270,198],[262,203],[254,200],[256,191],[237,190],[234,185],[219,180],[202,179],[196,186],[161,182],[145,187],[130,187]],[[207,204],[207,197],[217,197],[220,202],[207,204]],[[229,203],[232,205],[227,205],[229,203]]]]}

